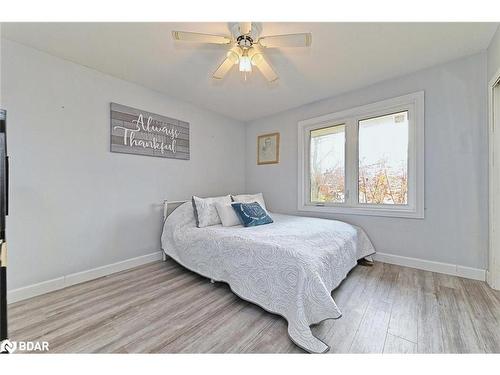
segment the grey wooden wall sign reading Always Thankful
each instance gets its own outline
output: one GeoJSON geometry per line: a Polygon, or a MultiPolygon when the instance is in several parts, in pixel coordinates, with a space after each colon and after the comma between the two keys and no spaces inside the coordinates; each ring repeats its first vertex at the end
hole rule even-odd
{"type": "Polygon", "coordinates": [[[111,103],[111,152],[189,160],[189,123],[111,103]]]}

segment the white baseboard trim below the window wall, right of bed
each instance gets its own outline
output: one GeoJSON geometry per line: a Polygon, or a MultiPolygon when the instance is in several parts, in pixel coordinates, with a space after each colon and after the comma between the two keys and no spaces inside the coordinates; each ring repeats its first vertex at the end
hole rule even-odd
{"type": "Polygon", "coordinates": [[[447,275],[460,276],[466,279],[480,281],[486,280],[486,270],[480,268],[465,267],[458,264],[434,262],[432,260],[403,257],[400,255],[379,252],[375,254],[374,258],[375,260],[378,260],[382,263],[390,263],[396,264],[398,266],[417,268],[424,271],[432,271],[437,273],[444,273],[447,275]]]}

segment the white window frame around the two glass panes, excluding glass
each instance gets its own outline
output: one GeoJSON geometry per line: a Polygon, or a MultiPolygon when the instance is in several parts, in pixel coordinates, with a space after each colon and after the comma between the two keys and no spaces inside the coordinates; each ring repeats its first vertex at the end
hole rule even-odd
{"type": "Polygon", "coordinates": [[[298,123],[298,199],[299,211],[424,218],[424,92],[371,103],[345,111],[330,113],[298,123]],[[383,205],[359,203],[358,200],[358,130],[359,121],[391,113],[408,111],[408,204],[383,205]],[[344,203],[310,202],[310,132],[325,126],[345,124],[344,203]]]}

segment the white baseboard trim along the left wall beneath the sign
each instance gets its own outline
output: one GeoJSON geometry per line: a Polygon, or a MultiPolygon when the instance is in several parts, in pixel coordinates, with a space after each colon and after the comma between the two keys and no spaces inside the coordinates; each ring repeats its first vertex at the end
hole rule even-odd
{"type": "Polygon", "coordinates": [[[135,258],[123,260],[121,262],[108,264],[106,266],[92,268],[90,270],[72,273],[69,275],[57,277],[55,279],[47,281],[42,281],[41,283],[9,290],[7,292],[7,301],[8,303],[22,301],[31,297],[36,297],[41,294],[53,292],[55,290],[63,289],[71,285],[83,283],[89,280],[94,280],[99,277],[124,271],[130,268],[134,268],[161,259],[162,259],[162,252],[156,251],[151,254],[141,255],[135,258]]]}

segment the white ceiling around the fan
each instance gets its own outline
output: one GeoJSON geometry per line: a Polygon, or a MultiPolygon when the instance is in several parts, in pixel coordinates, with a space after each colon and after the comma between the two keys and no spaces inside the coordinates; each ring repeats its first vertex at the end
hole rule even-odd
{"type": "Polygon", "coordinates": [[[2,37],[249,121],[485,50],[496,23],[263,23],[313,33],[311,48],[266,50],[280,76],[211,79],[227,46],[174,42],[172,30],[229,35],[227,23],[4,23],[2,37]]]}

